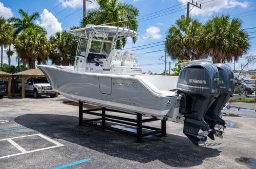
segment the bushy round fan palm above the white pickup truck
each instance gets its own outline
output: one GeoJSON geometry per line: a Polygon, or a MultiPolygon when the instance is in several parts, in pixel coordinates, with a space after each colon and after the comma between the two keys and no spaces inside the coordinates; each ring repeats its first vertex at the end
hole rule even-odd
{"type": "Polygon", "coordinates": [[[14,42],[14,46],[21,62],[28,64],[30,69],[35,69],[36,61],[37,64],[46,64],[51,50],[46,31],[39,27],[25,29],[14,42]]]}

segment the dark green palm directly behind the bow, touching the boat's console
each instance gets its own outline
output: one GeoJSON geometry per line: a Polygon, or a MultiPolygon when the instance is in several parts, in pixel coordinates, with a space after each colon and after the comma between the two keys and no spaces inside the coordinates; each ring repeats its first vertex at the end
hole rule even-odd
{"type": "Polygon", "coordinates": [[[76,55],[76,46],[78,39],[67,33],[67,31],[57,32],[54,36],[50,37],[52,44],[52,51],[50,59],[55,65],[73,65],[76,55]]]}

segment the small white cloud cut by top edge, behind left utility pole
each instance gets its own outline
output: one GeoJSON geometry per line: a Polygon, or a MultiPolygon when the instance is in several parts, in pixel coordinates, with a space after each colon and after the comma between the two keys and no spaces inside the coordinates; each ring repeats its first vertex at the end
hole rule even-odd
{"type": "MultiPolygon", "coordinates": [[[[94,0],[92,0],[94,1],[94,0]]],[[[59,0],[59,2],[61,3],[62,7],[71,7],[71,8],[82,8],[82,2],[83,0],[59,0]]],[[[90,2],[86,2],[87,6],[86,8],[91,9],[91,8],[95,8],[98,6],[97,1],[94,1],[92,3],[90,2]]]]}

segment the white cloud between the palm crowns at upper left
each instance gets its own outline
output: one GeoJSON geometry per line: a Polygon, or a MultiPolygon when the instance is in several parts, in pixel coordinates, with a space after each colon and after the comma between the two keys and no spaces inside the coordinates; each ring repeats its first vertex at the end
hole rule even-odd
{"type": "Polygon", "coordinates": [[[62,31],[61,23],[47,9],[44,9],[44,11],[42,11],[40,19],[41,21],[37,21],[37,24],[46,29],[48,38],[54,35],[56,32],[62,31]]]}

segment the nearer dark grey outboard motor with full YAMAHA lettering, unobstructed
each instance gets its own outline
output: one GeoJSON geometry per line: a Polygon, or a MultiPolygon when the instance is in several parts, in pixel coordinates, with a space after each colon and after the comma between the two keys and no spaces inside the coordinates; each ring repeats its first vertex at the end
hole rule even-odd
{"type": "Polygon", "coordinates": [[[200,140],[206,142],[210,132],[204,116],[219,95],[218,69],[208,62],[188,65],[180,71],[177,88],[182,95],[180,113],[185,118],[183,133],[198,146],[200,140]]]}

